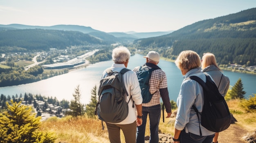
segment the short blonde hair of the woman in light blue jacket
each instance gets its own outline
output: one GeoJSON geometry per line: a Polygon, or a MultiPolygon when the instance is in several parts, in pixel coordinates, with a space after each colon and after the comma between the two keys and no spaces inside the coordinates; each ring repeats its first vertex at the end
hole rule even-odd
{"type": "Polygon", "coordinates": [[[193,68],[200,67],[201,61],[198,53],[195,51],[187,50],[182,51],[178,55],[177,59],[175,60],[175,64],[180,70],[185,70],[188,72],[193,68]]]}

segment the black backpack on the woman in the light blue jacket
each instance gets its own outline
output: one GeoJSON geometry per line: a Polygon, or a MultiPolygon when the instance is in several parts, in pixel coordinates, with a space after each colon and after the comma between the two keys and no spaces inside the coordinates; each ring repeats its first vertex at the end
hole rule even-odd
{"type": "MultiPolygon", "coordinates": [[[[227,103],[220,94],[216,84],[211,77],[206,75],[206,83],[199,77],[191,76],[190,79],[197,81],[204,90],[204,106],[201,112],[201,125],[212,132],[221,132],[229,128],[231,123],[231,115],[227,103]]],[[[199,112],[195,105],[192,106],[198,116],[199,112]]],[[[200,135],[202,136],[200,124],[200,135]]]]}

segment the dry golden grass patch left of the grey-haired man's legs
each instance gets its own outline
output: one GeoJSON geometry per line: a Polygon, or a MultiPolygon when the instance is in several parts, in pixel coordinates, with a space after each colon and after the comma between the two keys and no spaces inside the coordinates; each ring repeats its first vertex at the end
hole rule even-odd
{"type": "Polygon", "coordinates": [[[108,143],[108,131],[102,130],[97,119],[51,117],[43,121],[40,130],[55,132],[56,143],[108,143]]]}

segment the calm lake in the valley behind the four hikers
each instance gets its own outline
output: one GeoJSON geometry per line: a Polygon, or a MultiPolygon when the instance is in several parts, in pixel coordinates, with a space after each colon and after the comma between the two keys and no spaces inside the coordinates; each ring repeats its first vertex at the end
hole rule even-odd
{"type": "MultiPolygon", "coordinates": [[[[135,66],[144,64],[146,59],[142,55],[135,54],[130,57],[128,67],[133,69],[135,66]]],[[[89,103],[91,98],[91,90],[96,85],[99,86],[99,80],[103,70],[112,65],[112,60],[99,62],[81,68],[78,70],[70,71],[64,75],[58,75],[49,79],[44,79],[30,84],[22,84],[18,86],[0,87],[0,94],[3,95],[24,95],[25,92],[32,93],[34,95],[40,94],[45,97],[56,97],[59,101],[62,99],[70,101],[73,98],[74,89],[79,85],[81,91],[81,102],[89,103]]],[[[176,101],[180,91],[180,85],[183,81],[180,70],[175,66],[173,62],[167,62],[160,60],[158,66],[166,72],[169,97],[171,100],[176,101]]],[[[236,81],[241,78],[243,82],[244,91],[247,92],[245,97],[249,97],[252,93],[256,93],[256,75],[245,73],[234,73],[230,71],[224,71],[230,79],[230,85],[234,86],[236,81]]]]}

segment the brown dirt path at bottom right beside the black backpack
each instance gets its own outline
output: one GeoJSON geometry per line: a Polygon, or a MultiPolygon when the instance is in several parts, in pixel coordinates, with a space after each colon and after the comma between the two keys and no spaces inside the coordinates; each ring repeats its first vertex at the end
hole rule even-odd
{"type": "Polygon", "coordinates": [[[220,132],[218,143],[246,143],[242,137],[247,134],[247,130],[239,125],[231,124],[227,130],[220,132]]]}

